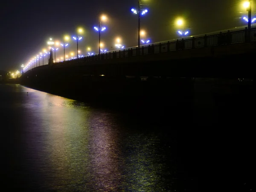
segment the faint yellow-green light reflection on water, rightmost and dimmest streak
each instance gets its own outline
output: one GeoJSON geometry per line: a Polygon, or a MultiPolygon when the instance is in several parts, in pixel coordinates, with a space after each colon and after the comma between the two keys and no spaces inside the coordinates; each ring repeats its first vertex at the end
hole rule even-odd
{"type": "Polygon", "coordinates": [[[130,137],[127,143],[126,170],[124,174],[124,191],[155,192],[162,191],[161,179],[163,164],[158,156],[158,142],[155,136],[144,134],[130,137]]]}

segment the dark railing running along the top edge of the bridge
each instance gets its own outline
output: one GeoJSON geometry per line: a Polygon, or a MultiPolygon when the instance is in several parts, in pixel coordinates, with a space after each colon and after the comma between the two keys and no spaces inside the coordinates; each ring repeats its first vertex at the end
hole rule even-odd
{"type": "Polygon", "coordinates": [[[89,55],[69,61],[54,63],[54,66],[84,64],[87,61],[124,58],[137,55],[157,54],[161,52],[177,51],[182,49],[197,49],[201,47],[220,46],[224,44],[239,44],[256,41],[256,28],[248,31],[247,28],[238,31],[219,32],[212,35],[198,35],[173,41],[165,41],[156,44],[148,44],[138,47],[130,47],[122,50],[114,50],[102,54],[89,55]]]}

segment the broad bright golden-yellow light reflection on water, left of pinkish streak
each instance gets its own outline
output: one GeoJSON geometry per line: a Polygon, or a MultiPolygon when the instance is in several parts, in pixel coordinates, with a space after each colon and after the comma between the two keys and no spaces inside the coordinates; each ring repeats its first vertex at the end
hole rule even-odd
{"type": "Polygon", "coordinates": [[[77,106],[77,102],[47,94],[44,97],[42,122],[46,131],[45,150],[52,167],[54,189],[61,191],[88,190],[84,185],[89,172],[89,111],[77,106]],[[49,147],[47,147],[49,146],[49,147]]]}

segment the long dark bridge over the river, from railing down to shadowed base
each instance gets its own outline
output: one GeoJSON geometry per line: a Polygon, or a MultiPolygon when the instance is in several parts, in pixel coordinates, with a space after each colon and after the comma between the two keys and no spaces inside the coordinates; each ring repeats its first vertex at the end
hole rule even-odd
{"type": "Polygon", "coordinates": [[[168,96],[166,87],[173,89],[178,84],[180,87],[180,82],[181,87],[190,87],[195,77],[254,79],[255,53],[256,28],[250,32],[236,29],[40,67],[30,65],[20,81],[29,87],[74,99],[80,99],[77,96],[95,99],[99,95],[101,99],[109,95],[111,98],[145,94],[168,96]]]}

